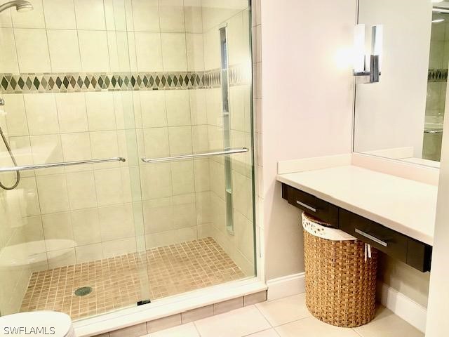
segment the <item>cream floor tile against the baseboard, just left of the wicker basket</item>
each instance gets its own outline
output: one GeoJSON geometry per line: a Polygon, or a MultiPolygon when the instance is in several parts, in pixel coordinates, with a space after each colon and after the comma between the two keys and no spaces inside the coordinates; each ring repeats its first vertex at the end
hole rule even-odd
{"type": "Polygon", "coordinates": [[[272,326],[286,324],[311,316],[306,307],[305,293],[280,298],[279,300],[258,303],[256,307],[272,326]]]}

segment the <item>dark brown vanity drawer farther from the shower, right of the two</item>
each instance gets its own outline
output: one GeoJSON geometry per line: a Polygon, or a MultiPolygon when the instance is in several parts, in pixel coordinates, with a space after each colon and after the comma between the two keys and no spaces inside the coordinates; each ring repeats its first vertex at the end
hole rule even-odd
{"type": "Polygon", "coordinates": [[[340,209],[340,230],[407,263],[408,237],[374,221],[340,209]]]}

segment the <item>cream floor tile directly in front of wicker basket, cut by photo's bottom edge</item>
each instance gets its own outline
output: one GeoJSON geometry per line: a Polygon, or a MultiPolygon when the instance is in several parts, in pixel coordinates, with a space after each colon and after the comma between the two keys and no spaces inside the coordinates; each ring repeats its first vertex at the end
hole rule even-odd
{"type": "Polygon", "coordinates": [[[360,337],[353,329],[326,324],[315,317],[300,319],[275,329],[281,337],[360,337]]]}

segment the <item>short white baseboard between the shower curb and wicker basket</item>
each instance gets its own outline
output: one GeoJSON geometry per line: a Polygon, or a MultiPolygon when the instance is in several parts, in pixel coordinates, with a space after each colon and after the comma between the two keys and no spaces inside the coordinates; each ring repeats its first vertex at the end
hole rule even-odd
{"type": "Polygon", "coordinates": [[[306,291],[305,273],[287,275],[278,277],[277,279],[269,279],[268,285],[268,300],[276,300],[287,296],[296,295],[297,293],[304,293],[306,291]]]}

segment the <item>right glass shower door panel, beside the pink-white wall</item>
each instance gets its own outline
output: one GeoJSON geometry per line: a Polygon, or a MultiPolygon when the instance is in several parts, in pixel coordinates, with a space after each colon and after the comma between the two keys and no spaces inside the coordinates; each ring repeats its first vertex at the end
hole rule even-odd
{"type": "Polygon", "coordinates": [[[152,299],[255,275],[248,2],[158,9],[160,34],[136,33],[138,72],[155,79],[135,92],[152,299]]]}

